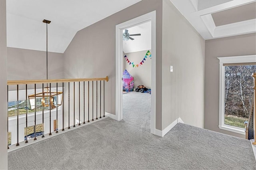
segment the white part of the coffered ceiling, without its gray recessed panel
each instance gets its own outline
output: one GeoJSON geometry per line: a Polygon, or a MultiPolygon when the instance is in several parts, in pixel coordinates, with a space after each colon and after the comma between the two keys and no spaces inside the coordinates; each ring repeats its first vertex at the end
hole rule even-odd
{"type": "MultiPolygon", "coordinates": [[[[216,26],[212,13],[235,8],[256,0],[170,0],[205,39],[256,32],[256,19],[216,26]]],[[[253,5],[253,4],[252,4],[253,5]]],[[[240,14],[243,15],[243,14],[240,14]]],[[[256,14],[254,14],[256,15],[256,14]]]]}

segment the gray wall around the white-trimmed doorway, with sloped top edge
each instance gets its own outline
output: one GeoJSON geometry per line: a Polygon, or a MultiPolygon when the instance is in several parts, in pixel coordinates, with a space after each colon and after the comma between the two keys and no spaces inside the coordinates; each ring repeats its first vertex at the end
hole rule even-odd
{"type": "MultiPolygon", "coordinates": [[[[65,78],[106,77],[105,111],[116,114],[116,25],[156,10],[156,87],[162,87],[162,0],[142,0],[76,33],[64,52],[65,78]],[[132,11],[132,12],[131,12],[132,11]]],[[[122,57],[122,56],[120,56],[122,57]]],[[[162,128],[162,89],[156,90],[156,128],[162,128]]]]}

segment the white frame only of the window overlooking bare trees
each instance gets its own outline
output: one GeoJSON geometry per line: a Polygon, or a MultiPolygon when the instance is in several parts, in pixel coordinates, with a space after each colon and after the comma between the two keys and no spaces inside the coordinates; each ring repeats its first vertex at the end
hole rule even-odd
{"type": "Polygon", "coordinates": [[[240,127],[234,127],[225,125],[225,66],[224,63],[252,63],[256,62],[256,55],[242,55],[232,57],[217,57],[220,60],[220,104],[219,104],[219,128],[228,130],[231,132],[245,134],[245,129],[240,127]]]}

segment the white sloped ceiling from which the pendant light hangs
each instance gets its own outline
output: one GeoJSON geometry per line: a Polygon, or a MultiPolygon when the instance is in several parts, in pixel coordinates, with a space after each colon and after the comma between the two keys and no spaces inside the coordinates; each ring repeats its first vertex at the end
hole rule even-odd
{"type": "Polygon", "coordinates": [[[7,46],[64,53],[76,32],[140,0],[7,0],[7,46]]]}

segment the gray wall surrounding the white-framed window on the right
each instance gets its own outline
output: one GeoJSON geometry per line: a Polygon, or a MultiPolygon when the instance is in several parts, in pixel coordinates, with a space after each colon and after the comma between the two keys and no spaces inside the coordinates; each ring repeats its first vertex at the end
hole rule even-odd
{"type": "Polygon", "coordinates": [[[206,40],[205,44],[205,115],[204,127],[233,136],[244,135],[222,130],[219,125],[219,60],[217,57],[256,54],[256,34],[206,40]]]}

